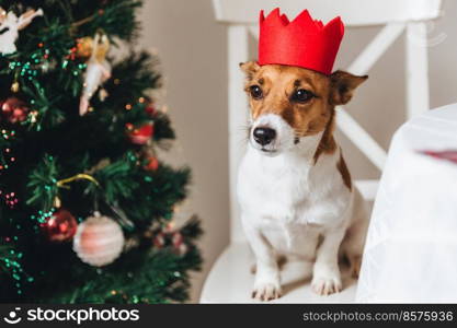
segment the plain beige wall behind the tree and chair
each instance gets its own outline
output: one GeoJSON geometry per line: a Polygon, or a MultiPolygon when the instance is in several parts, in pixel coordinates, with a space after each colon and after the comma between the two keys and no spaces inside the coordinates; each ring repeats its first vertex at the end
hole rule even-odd
{"type": "MultiPolygon", "coordinates": [[[[445,1],[443,9],[444,17],[430,31],[431,44],[445,36],[429,51],[432,107],[457,102],[457,1],[445,1]]],[[[197,301],[203,278],[227,245],[229,233],[226,30],[214,22],[210,0],[147,0],[141,20],[145,31],[139,46],[159,51],[167,104],[179,138],[165,160],[186,163],[194,173],[182,214],[198,213],[206,231],[201,243],[204,271],[194,281],[193,301],[197,301]]],[[[378,31],[350,30],[335,68],[346,67],[378,31]]],[[[347,106],[385,148],[404,119],[403,47],[402,38],[392,45],[347,106]]],[[[378,177],[344,137],[340,140],[356,178],[378,177]]]]}

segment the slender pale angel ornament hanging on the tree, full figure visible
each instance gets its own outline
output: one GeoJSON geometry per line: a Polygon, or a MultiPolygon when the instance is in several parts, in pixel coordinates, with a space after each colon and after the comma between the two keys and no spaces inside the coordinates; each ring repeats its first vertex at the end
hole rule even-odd
{"type": "Polygon", "coordinates": [[[92,43],[92,54],[84,74],[84,84],[79,103],[79,115],[88,113],[90,99],[100,85],[111,78],[111,66],[106,61],[110,40],[106,35],[98,33],[92,43]]]}

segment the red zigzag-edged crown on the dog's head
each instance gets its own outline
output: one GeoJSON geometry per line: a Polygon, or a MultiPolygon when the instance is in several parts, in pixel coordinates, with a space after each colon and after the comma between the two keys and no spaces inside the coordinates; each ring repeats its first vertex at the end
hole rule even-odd
{"type": "Polygon", "coordinates": [[[323,74],[332,72],[344,35],[340,16],[327,25],[315,21],[304,10],[289,22],[279,9],[265,19],[260,12],[259,65],[279,63],[311,69],[323,74]]]}

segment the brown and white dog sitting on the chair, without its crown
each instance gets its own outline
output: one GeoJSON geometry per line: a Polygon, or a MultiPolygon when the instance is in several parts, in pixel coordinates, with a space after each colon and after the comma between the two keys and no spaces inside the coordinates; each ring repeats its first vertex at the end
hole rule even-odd
{"type": "Polygon", "coordinates": [[[339,259],[358,274],[368,215],[333,132],[335,106],[368,77],[240,63],[250,122],[238,174],[241,221],[256,259],[252,296],[282,295],[278,258],[313,262],[312,290],[342,290],[339,259]]]}

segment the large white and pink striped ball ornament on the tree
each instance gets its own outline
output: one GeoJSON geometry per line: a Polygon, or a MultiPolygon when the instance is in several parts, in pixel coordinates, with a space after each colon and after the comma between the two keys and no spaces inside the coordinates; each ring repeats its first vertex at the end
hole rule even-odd
{"type": "Polygon", "coordinates": [[[124,234],[114,220],[95,212],[78,225],[73,250],[85,263],[103,267],[113,262],[124,248],[124,234]]]}

